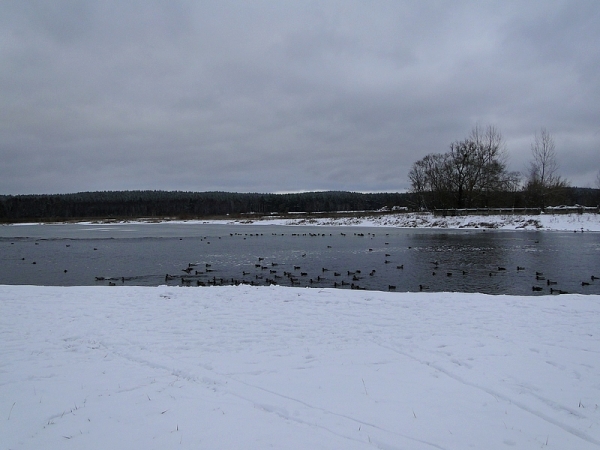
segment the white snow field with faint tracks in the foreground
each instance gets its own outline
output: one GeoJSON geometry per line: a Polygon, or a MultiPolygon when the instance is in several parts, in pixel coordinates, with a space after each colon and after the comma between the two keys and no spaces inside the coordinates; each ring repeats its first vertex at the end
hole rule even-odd
{"type": "Polygon", "coordinates": [[[2,449],[597,449],[600,296],[0,286],[2,449]]]}

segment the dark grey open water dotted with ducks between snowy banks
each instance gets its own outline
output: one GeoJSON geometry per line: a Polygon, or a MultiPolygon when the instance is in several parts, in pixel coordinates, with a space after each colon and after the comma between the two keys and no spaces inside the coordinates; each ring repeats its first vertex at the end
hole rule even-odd
{"type": "Polygon", "coordinates": [[[600,233],[192,223],[0,226],[0,284],[246,282],[600,294],[596,276],[600,233]]]}

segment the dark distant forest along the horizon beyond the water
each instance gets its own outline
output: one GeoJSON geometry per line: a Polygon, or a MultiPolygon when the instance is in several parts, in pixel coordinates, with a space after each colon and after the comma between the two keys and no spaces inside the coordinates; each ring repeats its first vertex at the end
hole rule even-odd
{"type": "MultiPolygon", "coordinates": [[[[488,206],[521,208],[522,192],[497,193],[488,206]]],[[[566,188],[564,204],[598,206],[600,190],[566,188]]],[[[416,210],[414,193],[328,191],[298,194],[232,192],[109,191],[55,195],[0,196],[0,221],[60,221],[106,218],[202,218],[290,212],[373,211],[394,207],[416,210]]]]}

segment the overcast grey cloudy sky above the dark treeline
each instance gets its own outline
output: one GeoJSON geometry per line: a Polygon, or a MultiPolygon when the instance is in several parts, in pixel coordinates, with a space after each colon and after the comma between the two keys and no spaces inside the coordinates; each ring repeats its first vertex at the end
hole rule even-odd
{"type": "Polygon", "coordinates": [[[0,194],[408,189],[476,124],[600,169],[600,2],[0,2],[0,194]]]}

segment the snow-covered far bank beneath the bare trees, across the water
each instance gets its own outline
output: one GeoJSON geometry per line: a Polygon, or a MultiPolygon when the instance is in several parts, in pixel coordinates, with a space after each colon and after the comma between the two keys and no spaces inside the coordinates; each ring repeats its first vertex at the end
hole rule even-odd
{"type": "Polygon", "coordinates": [[[500,230],[553,230],[600,231],[600,214],[539,214],[539,215],[459,215],[436,216],[431,213],[365,214],[360,217],[315,218],[300,215],[295,218],[241,220],[227,223],[267,225],[341,225],[399,228],[440,229],[500,229],[500,230]]]}

